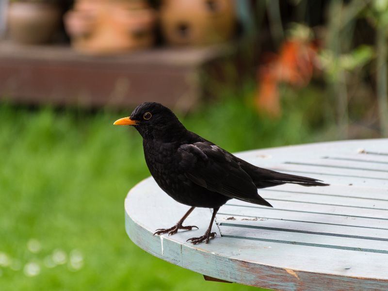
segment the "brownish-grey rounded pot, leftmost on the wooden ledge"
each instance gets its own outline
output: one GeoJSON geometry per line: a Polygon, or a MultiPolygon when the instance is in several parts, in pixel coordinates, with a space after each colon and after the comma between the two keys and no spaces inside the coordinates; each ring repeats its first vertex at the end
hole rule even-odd
{"type": "Polygon", "coordinates": [[[61,20],[59,7],[45,2],[12,2],[8,8],[9,37],[21,44],[49,42],[61,20]]]}

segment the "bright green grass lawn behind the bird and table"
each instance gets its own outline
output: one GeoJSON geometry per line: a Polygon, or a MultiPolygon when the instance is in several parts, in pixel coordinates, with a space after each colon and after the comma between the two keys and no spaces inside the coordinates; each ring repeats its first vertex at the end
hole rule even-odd
{"type": "MultiPolygon", "coordinates": [[[[302,114],[313,103],[273,121],[230,99],[182,121],[229,151],[298,144],[318,139],[302,114]]],[[[0,290],[253,290],[206,282],[129,240],[124,198],[149,173],[139,134],[112,125],[122,115],[0,105],[0,290]]]]}

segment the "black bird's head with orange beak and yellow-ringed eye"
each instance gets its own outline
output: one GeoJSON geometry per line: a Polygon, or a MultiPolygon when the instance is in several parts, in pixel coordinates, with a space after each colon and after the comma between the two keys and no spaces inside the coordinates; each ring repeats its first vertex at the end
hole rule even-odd
{"type": "Polygon", "coordinates": [[[144,102],[129,117],[116,120],[114,125],[132,125],[143,138],[168,137],[184,129],[177,116],[167,107],[156,102],[144,102]]]}

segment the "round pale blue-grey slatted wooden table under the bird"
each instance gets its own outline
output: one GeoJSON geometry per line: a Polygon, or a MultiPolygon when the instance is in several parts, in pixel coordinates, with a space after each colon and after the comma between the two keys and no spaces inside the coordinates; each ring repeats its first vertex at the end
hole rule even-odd
{"type": "Polygon", "coordinates": [[[147,178],[125,200],[129,238],[183,268],[275,290],[388,290],[388,139],[352,140],[247,151],[260,167],[318,178],[327,187],[285,184],[259,189],[274,208],[229,200],[211,217],[196,208],[185,225],[198,230],[153,236],[189,209],[147,178]]]}

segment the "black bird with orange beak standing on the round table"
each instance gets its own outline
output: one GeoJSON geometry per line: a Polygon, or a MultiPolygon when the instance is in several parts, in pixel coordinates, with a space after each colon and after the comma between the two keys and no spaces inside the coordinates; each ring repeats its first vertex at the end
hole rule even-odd
{"type": "Polygon", "coordinates": [[[285,183],[328,185],[317,179],[278,173],[245,162],[187,130],[170,109],[159,103],[142,103],[129,117],[118,119],[114,124],[131,125],[139,131],[152,177],[165,193],[191,207],[175,226],[157,229],[154,235],[173,235],[178,229],[198,228],[182,224],[195,207],[212,208],[205,234],[188,240],[194,244],[208,243],[216,235],[211,232],[214,217],[229,199],[272,207],[259,196],[258,188],[285,183]]]}

